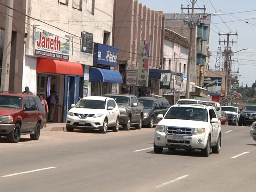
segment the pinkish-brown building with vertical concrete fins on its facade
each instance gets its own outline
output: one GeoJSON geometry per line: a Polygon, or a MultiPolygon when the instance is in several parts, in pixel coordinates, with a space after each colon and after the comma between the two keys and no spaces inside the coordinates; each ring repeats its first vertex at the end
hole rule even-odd
{"type": "Polygon", "coordinates": [[[150,93],[149,68],[163,68],[164,15],[137,0],[115,0],[113,44],[119,48],[119,92],[150,93]],[[148,86],[149,85],[149,86],[148,86]]]}

